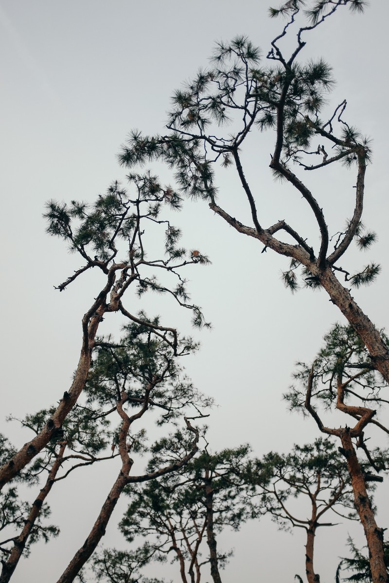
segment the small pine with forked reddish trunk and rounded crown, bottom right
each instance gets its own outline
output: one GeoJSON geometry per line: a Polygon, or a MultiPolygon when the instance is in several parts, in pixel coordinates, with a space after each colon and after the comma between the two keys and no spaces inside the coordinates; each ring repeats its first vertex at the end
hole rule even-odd
{"type": "Polygon", "coordinates": [[[318,438],[313,444],[295,445],[289,454],[269,452],[248,466],[247,477],[258,485],[257,514],[270,514],[279,528],[306,531],[307,581],[320,581],[314,568],[316,532],[322,526],[338,524],[325,521],[324,514],[358,519],[350,477],[334,442],[318,438]]]}

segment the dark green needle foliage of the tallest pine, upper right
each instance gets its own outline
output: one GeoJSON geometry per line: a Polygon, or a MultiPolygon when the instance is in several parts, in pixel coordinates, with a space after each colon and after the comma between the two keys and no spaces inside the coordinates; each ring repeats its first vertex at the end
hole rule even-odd
{"type": "MultiPolygon", "coordinates": [[[[216,168],[233,164],[250,203],[254,227],[261,230],[261,220],[257,217],[257,210],[254,210],[255,195],[244,178],[243,142],[255,127],[260,131],[276,131],[275,151],[270,164],[272,172],[275,178],[292,182],[304,193],[324,237],[320,250],[324,253],[328,251],[328,239],[334,241],[334,251],[346,239],[349,239],[349,245],[353,237],[348,236],[357,228],[356,222],[350,223],[344,233],[338,233],[338,238],[337,235],[328,235],[323,209],[300,179],[296,184],[292,164],[304,170],[314,170],[337,161],[346,166],[355,163],[366,165],[370,160],[370,144],[358,129],[343,120],[346,101],[335,108],[330,120],[321,120],[328,92],[334,85],[331,67],[323,58],[306,62],[297,62],[296,58],[306,44],[302,40],[303,33],[324,22],[341,6],[359,11],[364,3],[359,0],[323,0],[310,2],[310,8],[302,11],[307,4],[300,0],[288,0],[280,8],[270,9],[270,16],[286,16],[289,20],[282,33],[271,42],[265,63],[261,61],[259,48],[246,36],[237,36],[230,43],[216,43],[211,66],[201,69],[193,79],[174,92],[167,134],[144,136],[138,130],[132,132],[122,146],[119,160],[128,168],[143,165],[148,160],[162,160],[174,170],[177,191],[181,195],[203,198],[211,205],[216,204],[216,168]],[[299,13],[310,24],[298,29],[296,48],[287,59],[277,43],[288,32],[289,26],[295,26],[299,13]],[[228,133],[224,131],[226,125],[229,127],[228,133]],[[334,133],[335,126],[339,130],[338,137],[334,133]],[[320,142],[317,144],[318,139],[320,142]],[[323,142],[327,145],[324,146],[323,142]],[[312,160],[315,160],[314,164],[312,160]]],[[[233,224],[230,219],[226,220],[233,224]]],[[[307,238],[293,234],[290,229],[285,230],[314,259],[314,249],[306,244],[307,238]]],[[[356,236],[360,249],[368,248],[374,239],[374,234],[369,231],[363,236],[356,236]]],[[[286,255],[295,257],[292,252],[286,255]]],[[[328,255],[331,257],[331,254],[328,255]]],[[[324,258],[320,257],[320,266],[323,265],[324,258]]],[[[339,270],[345,273],[350,285],[359,287],[373,282],[380,268],[372,263],[353,275],[339,270]]],[[[292,292],[299,289],[300,281],[311,289],[320,287],[318,277],[299,261],[293,268],[283,271],[282,279],[292,292]]],[[[195,318],[195,322],[201,324],[201,318],[198,321],[195,318]]]]}

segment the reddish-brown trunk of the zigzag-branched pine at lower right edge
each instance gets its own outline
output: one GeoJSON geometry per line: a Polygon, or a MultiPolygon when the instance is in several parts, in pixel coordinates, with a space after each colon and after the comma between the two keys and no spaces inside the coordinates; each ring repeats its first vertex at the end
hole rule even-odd
{"type": "Polygon", "coordinates": [[[370,505],[369,495],[366,491],[365,478],[360,469],[359,461],[353,447],[350,432],[342,430],[340,434],[344,455],[351,476],[351,485],[354,493],[354,504],[369,547],[370,570],[373,583],[388,583],[389,577],[384,560],[383,529],[379,528],[374,518],[374,512],[370,505]]]}

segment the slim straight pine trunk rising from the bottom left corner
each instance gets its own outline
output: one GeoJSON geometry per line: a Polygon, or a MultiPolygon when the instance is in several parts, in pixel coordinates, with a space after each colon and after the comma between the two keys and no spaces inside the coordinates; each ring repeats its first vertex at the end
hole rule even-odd
{"type": "Polygon", "coordinates": [[[65,448],[66,444],[64,443],[61,445],[61,448],[59,449],[57,459],[52,465],[52,468],[50,470],[50,473],[48,475],[44,487],[41,489],[36,500],[34,500],[34,503],[31,506],[30,514],[26,520],[26,524],[24,524],[22,532],[15,540],[13,549],[10,552],[8,560],[3,563],[0,575],[0,583],[8,583],[8,581],[13,575],[13,572],[17,567],[17,563],[19,563],[20,557],[22,557],[24,547],[26,546],[27,540],[30,536],[31,530],[33,529],[36,519],[40,515],[40,511],[44,503],[44,500],[47,497],[47,494],[50,492],[52,484],[54,484],[54,479],[58,473],[59,468],[61,468],[65,448]]]}

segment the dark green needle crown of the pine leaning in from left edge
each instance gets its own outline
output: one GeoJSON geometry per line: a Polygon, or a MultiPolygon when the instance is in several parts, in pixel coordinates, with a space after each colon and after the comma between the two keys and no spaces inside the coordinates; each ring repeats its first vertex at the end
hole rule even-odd
{"type": "MultiPolygon", "coordinates": [[[[134,133],[133,139],[138,141],[139,135],[134,133]]],[[[194,254],[179,247],[181,230],[161,216],[165,205],[173,210],[180,209],[180,196],[170,186],[162,186],[158,178],[150,173],[131,173],[127,179],[131,192],[121,188],[116,181],[108,188],[106,195],[98,196],[93,205],[77,201],[70,204],[47,203],[44,215],[48,222],[47,232],[63,238],[69,244],[69,250],[79,252],[86,261],[85,266],[57,289],[64,290],[90,268],[101,269],[108,275],[108,270],[115,265],[118,257],[122,272],[115,284],[115,291],[119,291],[120,297],[135,282],[139,296],[146,291],[170,294],[181,306],[193,312],[194,326],[209,327],[198,305],[188,304],[186,280],[181,277],[180,271],[187,264],[207,265],[210,261],[200,251],[194,254]],[[164,257],[150,259],[146,244],[155,246],[158,225],[164,227],[164,257]],[[150,269],[154,273],[150,273],[150,269]],[[161,273],[161,270],[170,278],[176,278],[178,283],[173,286],[161,283],[156,276],[156,272],[161,273]]]]}

